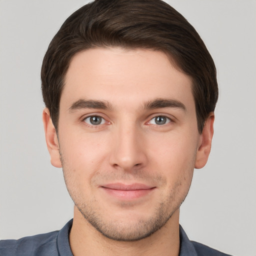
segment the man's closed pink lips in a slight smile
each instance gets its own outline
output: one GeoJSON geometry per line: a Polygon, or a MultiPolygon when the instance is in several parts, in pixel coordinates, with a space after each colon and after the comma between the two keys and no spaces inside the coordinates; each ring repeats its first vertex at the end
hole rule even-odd
{"type": "Polygon", "coordinates": [[[121,200],[133,200],[144,197],[152,192],[156,187],[142,183],[111,183],[100,186],[109,196],[121,200]]]}

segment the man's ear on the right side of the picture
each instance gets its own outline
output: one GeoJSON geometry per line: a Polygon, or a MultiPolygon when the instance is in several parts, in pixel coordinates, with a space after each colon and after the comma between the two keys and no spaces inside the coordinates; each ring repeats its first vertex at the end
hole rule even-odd
{"type": "Polygon", "coordinates": [[[200,134],[198,149],[195,158],[194,167],[196,169],[202,168],[208,159],[211,147],[211,140],[213,136],[213,122],[214,113],[210,112],[208,118],[206,119],[202,133],[200,134]]]}

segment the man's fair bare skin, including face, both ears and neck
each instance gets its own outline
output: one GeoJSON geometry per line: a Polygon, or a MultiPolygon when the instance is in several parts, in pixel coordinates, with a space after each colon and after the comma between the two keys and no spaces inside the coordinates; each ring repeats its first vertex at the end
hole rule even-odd
{"type": "Polygon", "coordinates": [[[47,108],[43,123],[75,203],[75,256],[178,255],[179,206],[213,135],[213,113],[197,130],[191,86],[159,51],[93,48],[72,58],[58,133],[47,108]]]}

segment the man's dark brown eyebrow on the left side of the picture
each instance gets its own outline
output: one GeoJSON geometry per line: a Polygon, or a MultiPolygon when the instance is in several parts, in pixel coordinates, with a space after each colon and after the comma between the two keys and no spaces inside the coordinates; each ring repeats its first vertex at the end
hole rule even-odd
{"type": "Polygon", "coordinates": [[[76,109],[83,109],[83,108],[99,108],[99,109],[112,109],[112,106],[109,102],[103,100],[85,100],[85,99],[78,99],[75,101],[70,107],[69,112],[72,112],[76,109]]]}

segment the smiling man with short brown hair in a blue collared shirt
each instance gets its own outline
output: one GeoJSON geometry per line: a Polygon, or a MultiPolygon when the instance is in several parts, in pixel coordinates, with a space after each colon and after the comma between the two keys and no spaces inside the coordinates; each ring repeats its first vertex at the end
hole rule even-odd
{"type": "Polygon", "coordinates": [[[44,56],[43,123],[74,217],[0,255],[226,255],[188,240],[179,206],[205,165],[218,90],[194,28],[159,0],[95,0],[44,56]]]}

